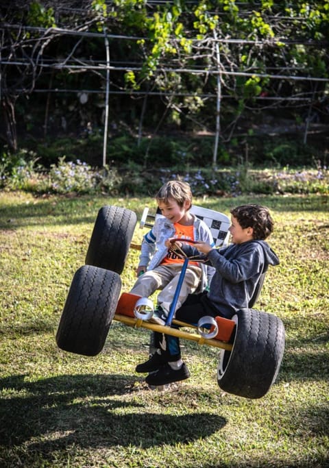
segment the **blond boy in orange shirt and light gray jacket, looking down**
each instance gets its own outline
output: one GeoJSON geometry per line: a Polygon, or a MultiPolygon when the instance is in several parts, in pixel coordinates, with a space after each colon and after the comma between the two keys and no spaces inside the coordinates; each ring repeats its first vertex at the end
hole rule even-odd
{"type": "MultiPolygon", "coordinates": [[[[140,261],[136,270],[138,280],[130,293],[149,297],[158,289],[158,305],[149,319],[164,325],[175,294],[184,260],[169,249],[166,241],[171,238],[206,242],[214,246],[212,234],[203,221],[190,212],[191,188],[185,182],[171,180],[156,194],[162,216],[157,217],[152,229],[145,234],[141,245],[140,261]]],[[[199,288],[203,291],[207,282],[204,264],[189,262],[176,308],[180,308],[186,297],[199,288]]]]}

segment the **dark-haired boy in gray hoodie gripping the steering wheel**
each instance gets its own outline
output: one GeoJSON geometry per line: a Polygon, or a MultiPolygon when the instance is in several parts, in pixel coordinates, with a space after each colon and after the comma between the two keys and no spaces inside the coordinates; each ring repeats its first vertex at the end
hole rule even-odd
{"type": "MultiPolygon", "coordinates": [[[[215,268],[209,291],[188,295],[176,312],[178,320],[195,324],[205,315],[231,319],[237,310],[251,308],[269,265],[279,263],[265,242],[273,231],[273,220],[265,206],[249,204],[233,208],[229,230],[232,244],[221,249],[206,242],[193,246],[174,243],[174,248],[182,249],[186,256],[195,258],[199,254],[197,258],[215,268]]],[[[171,242],[168,239],[167,245],[171,242]]],[[[157,352],[139,365],[143,372],[149,372],[147,384],[160,386],[187,379],[190,373],[181,358],[179,338],[156,332],[154,341],[157,352]]]]}

